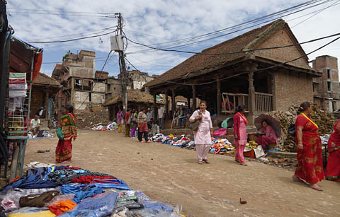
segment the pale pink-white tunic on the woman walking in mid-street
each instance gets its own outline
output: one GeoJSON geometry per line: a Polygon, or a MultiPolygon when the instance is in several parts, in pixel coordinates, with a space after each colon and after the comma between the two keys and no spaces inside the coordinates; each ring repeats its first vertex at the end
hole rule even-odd
{"type": "MultiPolygon", "coordinates": [[[[212,129],[212,122],[210,118],[210,112],[205,110],[205,114],[201,112],[202,119],[200,120],[200,124],[198,125],[198,131],[193,131],[194,134],[194,141],[197,144],[210,144],[211,143],[211,135],[210,129],[212,129]]],[[[193,112],[193,115],[190,117],[190,122],[194,122],[196,117],[199,117],[198,110],[193,112]]]]}

